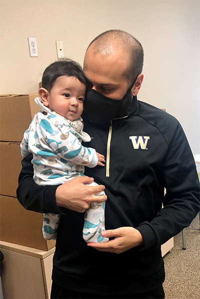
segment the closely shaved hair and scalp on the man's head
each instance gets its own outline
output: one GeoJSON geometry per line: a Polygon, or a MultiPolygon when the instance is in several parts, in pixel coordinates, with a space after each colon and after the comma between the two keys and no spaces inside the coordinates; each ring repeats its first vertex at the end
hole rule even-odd
{"type": "Polygon", "coordinates": [[[129,83],[142,72],[142,45],[135,37],[125,31],[117,29],[107,30],[96,36],[90,42],[88,48],[92,49],[94,55],[100,54],[102,57],[109,56],[117,49],[120,49],[129,59],[129,67],[124,73],[129,83]]]}

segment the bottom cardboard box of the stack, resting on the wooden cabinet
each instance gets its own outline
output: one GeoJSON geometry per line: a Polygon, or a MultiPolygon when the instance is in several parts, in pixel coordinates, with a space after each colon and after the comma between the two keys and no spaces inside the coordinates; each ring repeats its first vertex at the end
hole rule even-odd
{"type": "Polygon", "coordinates": [[[54,240],[42,235],[42,213],[25,210],[16,197],[0,195],[0,240],[48,251],[54,240]]]}

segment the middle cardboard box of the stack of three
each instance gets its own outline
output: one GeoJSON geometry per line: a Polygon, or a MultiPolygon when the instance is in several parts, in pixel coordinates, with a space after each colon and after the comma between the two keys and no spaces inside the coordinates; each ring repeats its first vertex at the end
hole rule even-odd
{"type": "Polygon", "coordinates": [[[21,170],[20,142],[0,141],[0,194],[16,196],[21,170]]]}

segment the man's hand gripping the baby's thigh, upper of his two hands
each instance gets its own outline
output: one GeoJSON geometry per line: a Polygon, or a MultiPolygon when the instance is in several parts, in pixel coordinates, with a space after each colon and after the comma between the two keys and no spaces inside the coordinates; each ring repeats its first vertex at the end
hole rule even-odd
{"type": "Polygon", "coordinates": [[[58,207],[64,207],[79,213],[83,213],[90,207],[91,203],[102,203],[107,199],[106,195],[95,196],[94,194],[103,191],[103,185],[85,186],[90,184],[93,178],[76,177],[57,187],[55,192],[58,207]]]}

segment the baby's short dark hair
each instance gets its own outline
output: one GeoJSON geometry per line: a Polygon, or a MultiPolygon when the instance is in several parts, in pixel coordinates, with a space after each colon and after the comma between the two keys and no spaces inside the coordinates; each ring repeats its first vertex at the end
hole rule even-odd
{"type": "Polygon", "coordinates": [[[86,86],[86,78],[80,64],[69,58],[61,58],[45,68],[41,79],[42,87],[50,92],[55,80],[60,76],[76,77],[86,86]]]}

